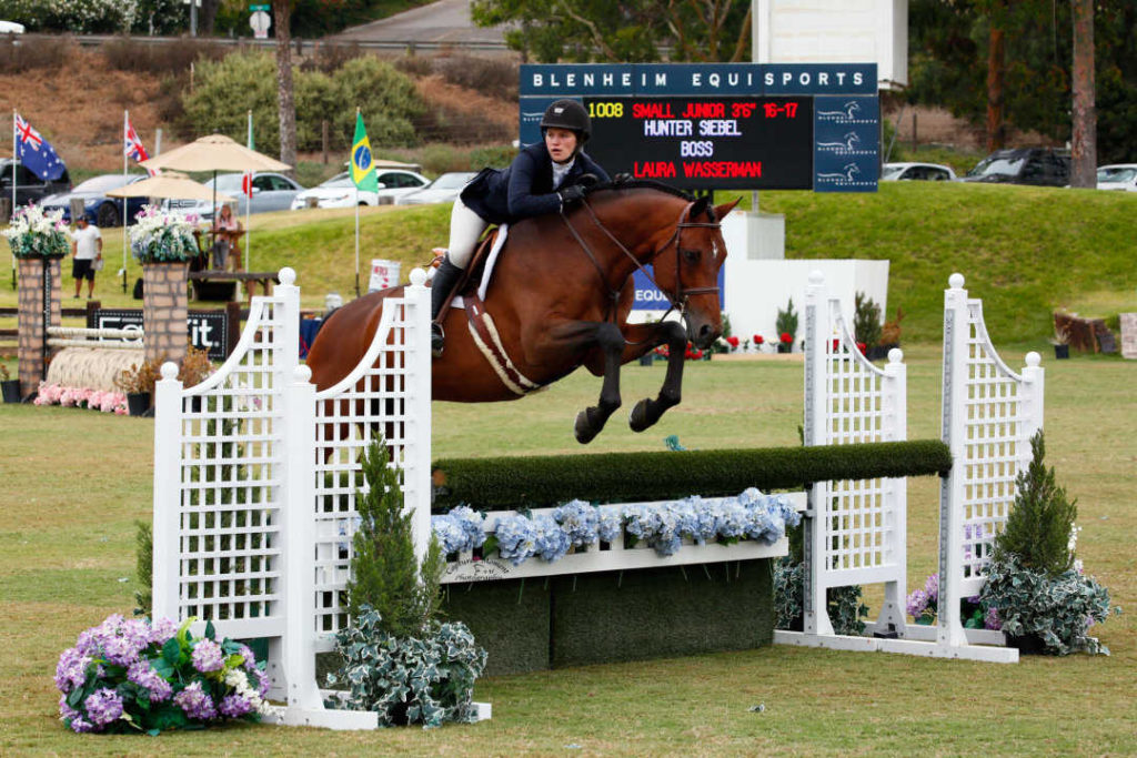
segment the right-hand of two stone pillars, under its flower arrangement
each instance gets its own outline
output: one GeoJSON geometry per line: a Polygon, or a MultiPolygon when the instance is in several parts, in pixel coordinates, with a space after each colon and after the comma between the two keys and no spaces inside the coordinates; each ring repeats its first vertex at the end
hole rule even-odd
{"type": "Polygon", "coordinates": [[[173,360],[181,365],[185,357],[189,269],[189,263],[142,266],[142,332],[147,360],[173,360]]]}

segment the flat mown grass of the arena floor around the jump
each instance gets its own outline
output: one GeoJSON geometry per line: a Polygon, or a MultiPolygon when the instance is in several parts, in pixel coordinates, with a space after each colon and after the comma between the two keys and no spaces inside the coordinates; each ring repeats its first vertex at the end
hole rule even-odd
{"type": "MultiPolygon", "coordinates": [[[[999,341],[1001,334],[993,330],[999,341]]],[[[1021,367],[1037,342],[999,343],[1021,367]]],[[[906,345],[908,436],[939,434],[938,345],[906,345]]],[[[1079,556],[1137,600],[1137,364],[1044,360],[1048,464],[1078,498],[1079,556]]],[[[624,372],[624,410],[662,368],[624,372]]],[[[434,405],[434,457],[578,451],[571,423],[597,380],[575,374],[515,403],[434,405]]],[[[589,452],[797,444],[802,364],[689,364],[683,403],[642,435],[623,413],[589,452]]],[[[1099,630],[1112,657],[1014,666],[792,648],[480,680],[493,718],[375,733],[240,726],[157,739],[77,736],[56,720],[59,652],[135,589],[133,522],[151,500],[153,425],[85,410],[0,406],[0,753],[5,755],[1131,755],[1137,625],[1099,630]],[[752,706],[764,705],[762,713],[752,706]]],[[[675,453],[681,455],[681,453],[675,453]]],[[[936,569],[937,481],[910,483],[910,584],[936,569]]],[[[879,606],[870,589],[870,605],[879,606]]]]}

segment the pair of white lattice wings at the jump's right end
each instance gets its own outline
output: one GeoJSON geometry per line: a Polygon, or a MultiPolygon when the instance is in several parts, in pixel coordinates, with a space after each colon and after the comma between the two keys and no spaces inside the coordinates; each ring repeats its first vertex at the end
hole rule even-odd
{"type": "MultiPolygon", "coordinates": [[[[940,493],[937,626],[905,622],[904,480],[815,484],[806,510],[804,631],[775,632],[786,644],[880,650],[1013,663],[1018,650],[1001,632],[964,630],[960,600],[979,593],[995,535],[1014,501],[1015,476],[1030,461],[1030,438],[1043,424],[1038,353],[1015,374],[987,334],[982,302],[968,299],[952,275],[944,302],[943,440],[953,466],[940,493]],[[825,590],[883,583],[883,607],[869,627],[883,636],[833,634],[825,590]]],[[[805,308],[805,442],[898,441],[906,435],[905,372],[898,350],[879,369],[856,349],[839,303],[811,277],[805,308]]]]}

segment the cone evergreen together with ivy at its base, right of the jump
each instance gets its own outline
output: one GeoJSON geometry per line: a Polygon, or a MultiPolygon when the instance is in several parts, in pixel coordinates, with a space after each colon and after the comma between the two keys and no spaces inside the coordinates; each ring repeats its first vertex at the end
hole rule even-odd
{"type": "Polygon", "coordinates": [[[1085,575],[1074,555],[1077,501],[1044,465],[1041,431],[1030,447],[1032,459],[1015,481],[1014,507],[995,540],[980,600],[996,609],[1007,644],[1022,652],[1109,655],[1087,634],[1111,607],[1109,590],[1085,575]]]}

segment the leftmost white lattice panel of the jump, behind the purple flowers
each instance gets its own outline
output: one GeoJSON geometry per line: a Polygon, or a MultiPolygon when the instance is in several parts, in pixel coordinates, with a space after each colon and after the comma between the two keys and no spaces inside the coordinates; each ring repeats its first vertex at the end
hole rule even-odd
{"type": "Polygon", "coordinates": [[[176,590],[166,615],[227,622],[231,634],[280,634],[282,374],[297,360],[288,310],[279,298],[254,301],[230,359],[160,419],[177,438],[177,505],[166,514],[176,590]]]}

